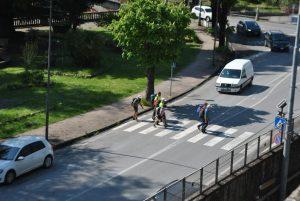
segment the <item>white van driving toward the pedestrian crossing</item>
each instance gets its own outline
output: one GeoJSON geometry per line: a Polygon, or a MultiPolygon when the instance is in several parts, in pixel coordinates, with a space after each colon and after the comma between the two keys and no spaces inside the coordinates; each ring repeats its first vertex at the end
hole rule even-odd
{"type": "Polygon", "coordinates": [[[217,82],[218,92],[241,92],[248,84],[252,85],[254,70],[248,59],[235,59],[223,68],[217,82]]]}

